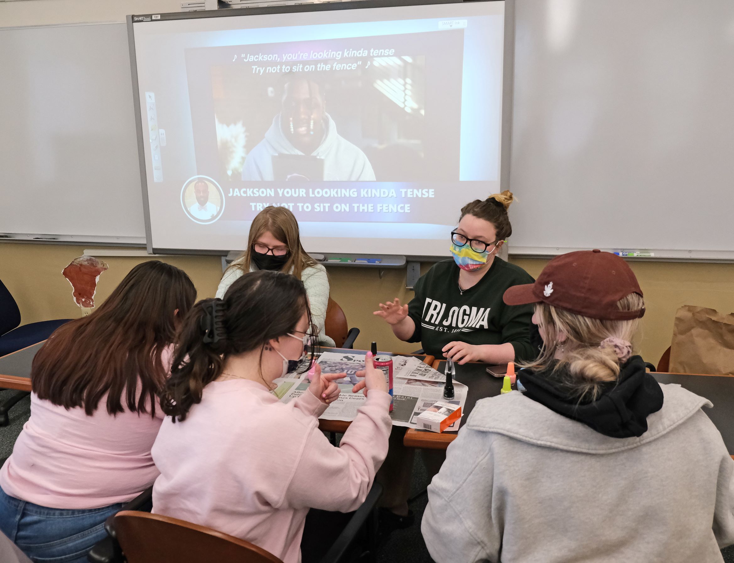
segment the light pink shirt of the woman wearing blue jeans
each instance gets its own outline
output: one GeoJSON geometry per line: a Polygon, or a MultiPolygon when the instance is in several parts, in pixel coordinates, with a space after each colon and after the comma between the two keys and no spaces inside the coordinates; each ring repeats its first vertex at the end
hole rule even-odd
{"type": "MultiPolygon", "coordinates": [[[[92,416],[31,395],[31,418],[0,470],[0,487],[22,501],[90,509],[130,501],[150,487],[158,470],[150,456],[164,416],[109,415],[107,396],[92,416]]],[[[124,403],[123,403],[124,406],[124,403]]]]}

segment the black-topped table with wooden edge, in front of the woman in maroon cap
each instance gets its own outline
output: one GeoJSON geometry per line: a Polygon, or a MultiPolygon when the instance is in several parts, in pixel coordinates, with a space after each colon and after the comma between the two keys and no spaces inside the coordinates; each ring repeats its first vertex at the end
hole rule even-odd
{"type": "MultiPolygon", "coordinates": [[[[436,360],[433,367],[443,373],[446,362],[436,360]]],[[[461,425],[466,423],[471,410],[479,399],[493,397],[500,394],[502,377],[494,377],[487,373],[487,365],[483,363],[466,363],[456,367],[455,379],[468,385],[468,395],[461,425]]],[[[655,373],[653,376],[661,383],[677,383],[713,403],[713,408],[705,408],[704,412],[711,418],[714,426],[719,429],[724,438],[724,444],[729,453],[734,452],[734,376],[705,375],[705,374],[664,374],[655,373]]],[[[405,433],[403,443],[409,448],[446,449],[454,441],[457,432],[429,432],[410,428],[405,433]]],[[[734,458],[734,455],[732,456],[734,458]]]]}

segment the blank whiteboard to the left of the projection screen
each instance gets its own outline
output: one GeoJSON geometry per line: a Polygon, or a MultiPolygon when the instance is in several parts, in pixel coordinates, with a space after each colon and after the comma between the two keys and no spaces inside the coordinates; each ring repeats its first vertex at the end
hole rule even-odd
{"type": "Polygon", "coordinates": [[[125,23],[0,29],[0,233],[145,244],[125,23]]]}

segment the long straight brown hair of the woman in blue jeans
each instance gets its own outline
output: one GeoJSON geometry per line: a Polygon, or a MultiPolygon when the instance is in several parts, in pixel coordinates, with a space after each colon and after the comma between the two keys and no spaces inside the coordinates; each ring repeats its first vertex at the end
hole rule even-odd
{"type": "Polygon", "coordinates": [[[183,270],[157,260],[138,264],[90,316],[48,338],[33,359],[34,393],[60,407],[83,407],[89,416],[105,394],[111,415],[147,413],[149,402],[154,416],[166,377],[161,352],[175,338],[175,310],[181,318],[195,299],[183,270]]]}

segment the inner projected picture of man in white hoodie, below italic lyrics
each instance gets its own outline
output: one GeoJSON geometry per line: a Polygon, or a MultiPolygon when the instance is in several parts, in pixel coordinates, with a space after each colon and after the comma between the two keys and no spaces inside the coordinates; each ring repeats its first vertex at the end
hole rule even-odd
{"type": "Polygon", "coordinates": [[[265,69],[280,72],[252,73],[241,65],[213,67],[222,177],[426,179],[424,56],[342,58],[368,52],[312,51],[311,55],[338,58],[292,65],[262,63],[268,65],[265,69]]]}

